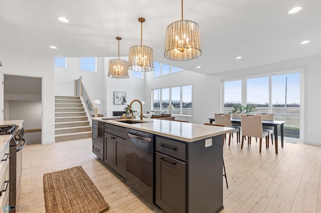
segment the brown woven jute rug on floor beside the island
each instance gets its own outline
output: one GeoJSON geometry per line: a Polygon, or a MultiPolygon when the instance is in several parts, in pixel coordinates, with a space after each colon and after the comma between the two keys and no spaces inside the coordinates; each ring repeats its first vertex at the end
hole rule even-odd
{"type": "Polygon", "coordinates": [[[46,212],[96,212],[109,208],[81,166],[44,174],[46,212]]]}

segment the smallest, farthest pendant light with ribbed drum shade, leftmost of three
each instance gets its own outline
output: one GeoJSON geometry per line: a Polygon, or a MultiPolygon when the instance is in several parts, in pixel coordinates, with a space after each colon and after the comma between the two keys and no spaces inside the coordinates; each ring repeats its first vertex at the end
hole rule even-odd
{"type": "Polygon", "coordinates": [[[128,61],[119,59],[119,40],[121,37],[116,37],[118,40],[118,59],[109,60],[108,77],[112,78],[128,78],[128,61]]]}

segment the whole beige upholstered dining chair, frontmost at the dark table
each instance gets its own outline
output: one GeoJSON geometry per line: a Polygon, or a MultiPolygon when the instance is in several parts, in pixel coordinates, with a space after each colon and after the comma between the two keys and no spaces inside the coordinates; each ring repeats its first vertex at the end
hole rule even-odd
{"type": "Polygon", "coordinates": [[[241,114],[242,144],[244,137],[247,136],[247,144],[251,144],[251,137],[260,138],[260,153],[262,150],[262,138],[265,137],[265,147],[267,148],[268,131],[264,131],[262,127],[262,117],[258,114],[241,114]]]}

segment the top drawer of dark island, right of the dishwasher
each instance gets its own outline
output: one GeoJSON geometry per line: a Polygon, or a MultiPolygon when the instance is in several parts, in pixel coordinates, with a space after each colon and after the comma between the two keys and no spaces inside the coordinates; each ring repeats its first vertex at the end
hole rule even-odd
{"type": "Polygon", "coordinates": [[[186,160],[186,144],[175,140],[156,136],[156,151],[186,160]]]}

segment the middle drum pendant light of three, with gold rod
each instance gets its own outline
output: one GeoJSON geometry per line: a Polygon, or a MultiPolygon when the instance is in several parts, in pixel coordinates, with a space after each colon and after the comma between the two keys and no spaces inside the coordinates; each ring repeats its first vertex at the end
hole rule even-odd
{"type": "Polygon", "coordinates": [[[138,21],[141,23],[140,45],[129,48],[128,69],[140,72],[153,71],[154,59],[152,48],[142,45],[142,23],[145,22],[145,18],[140,17],[138,21]]]}

